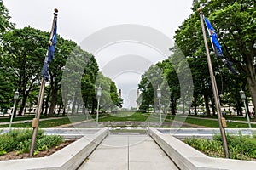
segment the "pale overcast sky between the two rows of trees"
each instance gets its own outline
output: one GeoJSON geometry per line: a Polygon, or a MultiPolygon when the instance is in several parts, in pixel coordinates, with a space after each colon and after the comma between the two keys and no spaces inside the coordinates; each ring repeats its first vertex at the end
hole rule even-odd
{"type": "MultiPolygon", "coordinates": [[[[3,3],[16,28],[30,25],[41,31],[50,30],[53,10],[58,8],[58,34],[78,44],[98,31],[124,24],[147,26],[172,39],[178,26],[192,13],[192,0],[3,0],[3,3]]],[[[144,64],[144,70],[131,66],[130,70],[126,68],[110,76],[123,90],[125,107],[136,106],[137,84],[143,71],[166,59],[154,48],[134,42],[108,44],[97,52],[89,52],[96,56],[100,70],[106,76],[111,65],[127,66],[127,63],[119,62],[124,59],[128,59],[128,63],[132,59],[144,64]]]]}

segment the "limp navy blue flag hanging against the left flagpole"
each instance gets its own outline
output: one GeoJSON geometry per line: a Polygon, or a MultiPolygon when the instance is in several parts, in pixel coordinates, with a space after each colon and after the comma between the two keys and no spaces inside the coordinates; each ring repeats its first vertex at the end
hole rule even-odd
{"type": "Polygon", "coordinates": [[[54,59],[56,42],[57,42],[57,20],[55,20],[55,28],[53,31],[53,36],[49,42],[47,54],[44,59],[43,69],[41,71],[42,77],[46,81],[49,80],[49,65],[48,64],[52,61],[52,59],[54,59]]]}

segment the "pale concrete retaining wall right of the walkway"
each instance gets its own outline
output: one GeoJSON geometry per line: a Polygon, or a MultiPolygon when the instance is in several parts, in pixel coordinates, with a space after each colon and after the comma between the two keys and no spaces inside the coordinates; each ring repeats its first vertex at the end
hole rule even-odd
{"type": "Polygon", "coordinates": [[[171,134],[160,133],[155,128],[149,128],[149,135],[160,145],[162,150],[174,161],[182,170],[254,170],[255,161],[240,161],[223,158],[212,158],[195,150],[188,144],[184,144],[171,134]]]}

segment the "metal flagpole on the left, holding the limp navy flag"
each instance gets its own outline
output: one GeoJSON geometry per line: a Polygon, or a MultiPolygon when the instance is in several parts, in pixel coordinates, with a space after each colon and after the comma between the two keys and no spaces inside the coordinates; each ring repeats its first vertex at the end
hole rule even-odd
{"type": "MultiPolygon", "coordinates": [[[[57,15],[58,15],[57,13],[58,13],[58,9],[55,8],[54,19],[53,19],[52,28],[50,31],[50,36],[49,36],[49,45],[51,44],[51,39],[53,37],[53,31],[54,31],[55,23],[56,23],[55,21],[57,20],[57,15]]],[[[48,50],[47,50],[46,56],[47,55],[48,55],[48,50]]],[[[35,118],[33,118],[33,120],[32,120],[33,132],[32,132],[32,141],[31,141],[31,146],[30,146],[30,151],[29,151],[29,157],[32,157],[34,155],[34,148],[36,145],[36,139],[37,139],[37,134],[38,134],[39,118],[40,118],[40,113],[41,113],[43,99],[44,99],[45,82],[46,82],[46,80],[44,78],[42,78],[41,87],[40,87],[40,91],[38,94],[37,111],[36,111],[35,118]]]]}

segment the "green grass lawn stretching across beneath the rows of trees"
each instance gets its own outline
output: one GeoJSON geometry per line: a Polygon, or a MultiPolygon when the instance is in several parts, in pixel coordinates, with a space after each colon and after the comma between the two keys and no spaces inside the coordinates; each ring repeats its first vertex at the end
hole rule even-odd
{"type": "MultiPolygon", "coordinates": [[[[201,117],[201,116],[200,116],[201,117]]],[[[228,116],[229,117],[229,116],[228,116]]],[[[29,120],[32,121],[33,117],[16,117],[15,120],[29,120]]],[[[59,116],[59,119],[53,120],[45,120],[46,118],[42,116],[40,118],[40,127],[56,127],[64,124],[69,124],[73,122],[82,122],[86,120],[86,116],[59,116]],[[71,118],[72,117],[72,118],[71,118]]],[[[95,121],[96,115],[90,116],[91,121],[95,121]]],[[[218,121],[214,120],[206,120],[206,119],[197,119],[196,116],[193,117],[184,117],[184,116],[172,116],[172,115],[162,115],[163,122],[172,122],[173,120],[178,122],[186,122],[190,124],[195,124],[199,126],[205,127],[215,127],[218,128],[218,121]]],[[[242,117],[240,117],[242,118],[242,117]]],[[[3,118],[2,118],[3,119],[3,118]]],[[[1,122],[2,122],[1,119],[1,122]]],[[[6,118],[9,121],[9,118],[6,118]]],[[[100,114],[99,122],[159,122],[159,114],[158,113],[140,113],[140,112],[128,112],[128,111],[120,111],[115,114],[100,114]]],[[[227,122],[228,128],[247,128],[247,123],[238,123],[238,122],[227,122]]],[[[31,127],[32,123],[13,123],[12,127],[31,127]]],[[[0,127],[9,127],[9,125],[0,125],[0,127]]],[[[253,128],[256,128],[255,124],[252,124],[253,128]]]]}

